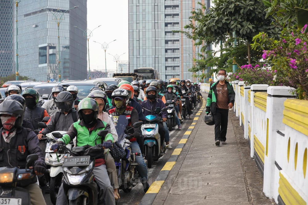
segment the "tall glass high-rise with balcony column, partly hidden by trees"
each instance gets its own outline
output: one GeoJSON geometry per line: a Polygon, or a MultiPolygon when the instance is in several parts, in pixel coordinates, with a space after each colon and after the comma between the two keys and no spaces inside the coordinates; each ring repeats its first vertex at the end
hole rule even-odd
{"type": "MultiPolygon", "coordinates": [[[[201,0],[205,3],[205,0],[201,0]]],[[[129,69],[152,67],[161,79],[192,79],[188,69],[198,53],[194,41],[175,30],[185,30],[194,0],[129,0],[129,69]]]]}

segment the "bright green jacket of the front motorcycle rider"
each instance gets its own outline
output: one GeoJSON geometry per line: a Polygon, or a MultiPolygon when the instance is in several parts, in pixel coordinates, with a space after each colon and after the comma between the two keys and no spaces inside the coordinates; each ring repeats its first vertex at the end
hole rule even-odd
{"type": "Polygon", "coordinates": [[[111,140],[113,141],[112,134],[110,133],[110,125],[102,120],[97,119],[97,124],[95,128],[89,133],[89,129],[84,126],[83,120],[73,123],[68,129],[67,133],[60,139],[65,144],[68,144],[76,136],[76,146],[95,146],[96,144],[102,144],[104,141],[111,140]],[[101,130],[109,130],[109,133],[106,135],[105,139],[102,140],[101,136],[98,136],[97,133],[101,130]]]}

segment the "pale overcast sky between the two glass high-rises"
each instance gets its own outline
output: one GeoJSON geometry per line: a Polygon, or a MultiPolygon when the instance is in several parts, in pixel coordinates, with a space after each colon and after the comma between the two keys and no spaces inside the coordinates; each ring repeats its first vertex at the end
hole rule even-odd
{"type": "MultiPolygon", "coordinates": [[[[115,70],[116,63],[112,55],[121,55],[121,60],[128,61],[128,1],[127,0],[87,0],[87,27],[93,30],[89,40],[90,68],[105,71],[105,52],[100,43],[109,43],[106,51],[107,72],[115,70]],[[99,28],[95,29],[97,26],[99,28]]],[[[89,66],[89,65],[87,65],[89,66]]],[[[87,68],[89,69],[89,67],[87,68]]]]}

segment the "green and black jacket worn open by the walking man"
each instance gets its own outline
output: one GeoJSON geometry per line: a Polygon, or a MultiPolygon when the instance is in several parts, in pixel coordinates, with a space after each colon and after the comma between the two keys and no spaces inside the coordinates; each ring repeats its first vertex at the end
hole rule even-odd
{"type": "MultiPolygon", "coordinates": [[[[217,99],[216,86],[217,86],[217,83],[218,82],[213,83],[212,86],[210,87],[209,95],[208,95],[208,98],[206,100],[206,108],[207,108],[207,110],[210,108],[210,111],[211,111],[212,114],[215,114],[215,110],[216,110],[216,99],[217,99]]],[[[228,81],[225,81],[225,84],[227,84],[229,103],[232,103],[234,105],[235,92],[233,90],[233,87],[232,87],[232,85],[230,85],[230,83],[228,81]]],[[[206,111],[206,113],[209,113],[209,111],[206,111]]]]}

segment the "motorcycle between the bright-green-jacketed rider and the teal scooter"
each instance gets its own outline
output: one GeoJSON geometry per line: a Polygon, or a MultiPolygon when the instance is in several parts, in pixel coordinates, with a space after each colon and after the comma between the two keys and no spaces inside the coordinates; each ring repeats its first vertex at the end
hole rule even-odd
{"type": "MultiPolygon", "coordinates": [[[[138,166],[139,163],[136,163],[135,157],[140,156],[141,153],[132,153],[132,143],[129,141],[131,136],[124,133],[125,127],[128,124],[128,119],[126,116],[111,116],[111,119],[115,124],[115,129],[118,134],[118,142],[126,152],[126,155],[123,159],[121,159],[119,162],[115,162],[115,167],[118,174],[119,189],[122,189],[124,192],[130,192],[132,187],[136,186],[136,166],[138,166]]],[[[143,122],[136,122],[133,124],[132,128],[138,128],[142,125],[142,123],[143,122]]],[[[127,132],[130,129],[128,129],[127,132]]]]}

